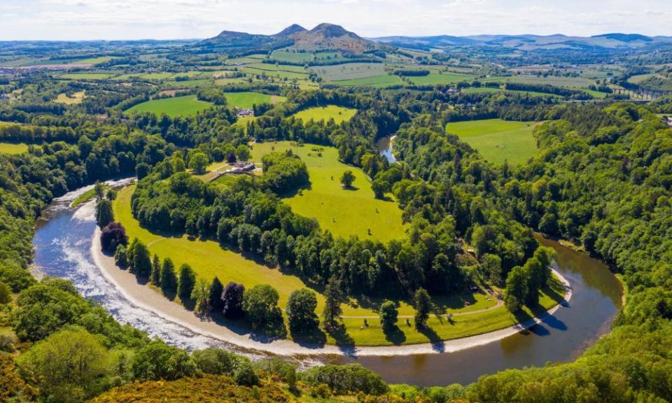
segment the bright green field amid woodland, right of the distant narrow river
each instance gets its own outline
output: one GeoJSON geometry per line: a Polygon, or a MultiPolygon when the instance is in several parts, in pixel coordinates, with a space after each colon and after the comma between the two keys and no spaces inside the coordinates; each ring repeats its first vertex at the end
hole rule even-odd
{"type": "Polygon", "coordinates": [[[523,164],[537,153],[532,136],[534,122],[508,122],[501,119],[469,120],[446,125],[446,132],[456,134],[489,162],[523,164]]]}

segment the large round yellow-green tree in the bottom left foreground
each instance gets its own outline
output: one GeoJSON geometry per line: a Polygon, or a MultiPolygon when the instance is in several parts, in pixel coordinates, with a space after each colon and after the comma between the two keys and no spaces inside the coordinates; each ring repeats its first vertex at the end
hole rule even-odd
{"type": "Polygon", "coordinates": [[[45,401],[81,402],[101,391],[110,362],[97,337],[71,328],[35,344],[20,355],[17,365],[20,374],[38,386],[45,401]]]}

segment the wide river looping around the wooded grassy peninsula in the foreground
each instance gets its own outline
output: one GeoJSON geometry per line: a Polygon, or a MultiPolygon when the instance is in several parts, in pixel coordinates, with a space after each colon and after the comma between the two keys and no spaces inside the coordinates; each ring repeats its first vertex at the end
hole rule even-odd
{"type": "MultiPolygon", "coordinates": [[[[169,344],[188,350],[216,346],[245,353],[252,358],[265,356],[241,351],[235,346],[197,334],[127,301],[93,263],[90,253],[91,235],[95,228],[92,204],[69,207],[71,201],[84,190],[71,192],[53,201],[38,221],[33,239],[34,265],[38,274],[67,278],[84,297],[102,304],[120,323],[129,323],[169,344]]],[[[526,334],[516,334],[456,353],[360,358],[321,356],[301,358],[302,364],[314,365],[317,361],[360,362],[388,382],[433,386],[468,383],[482,374],[501,369],[574,360],[601,334],[608,332],[621,304],[622,287],[601,262],[554,241],[540,241],[558,252],[556,270],[569,281],[573,297],[568,306],[562,307],[526,334]]]]}

